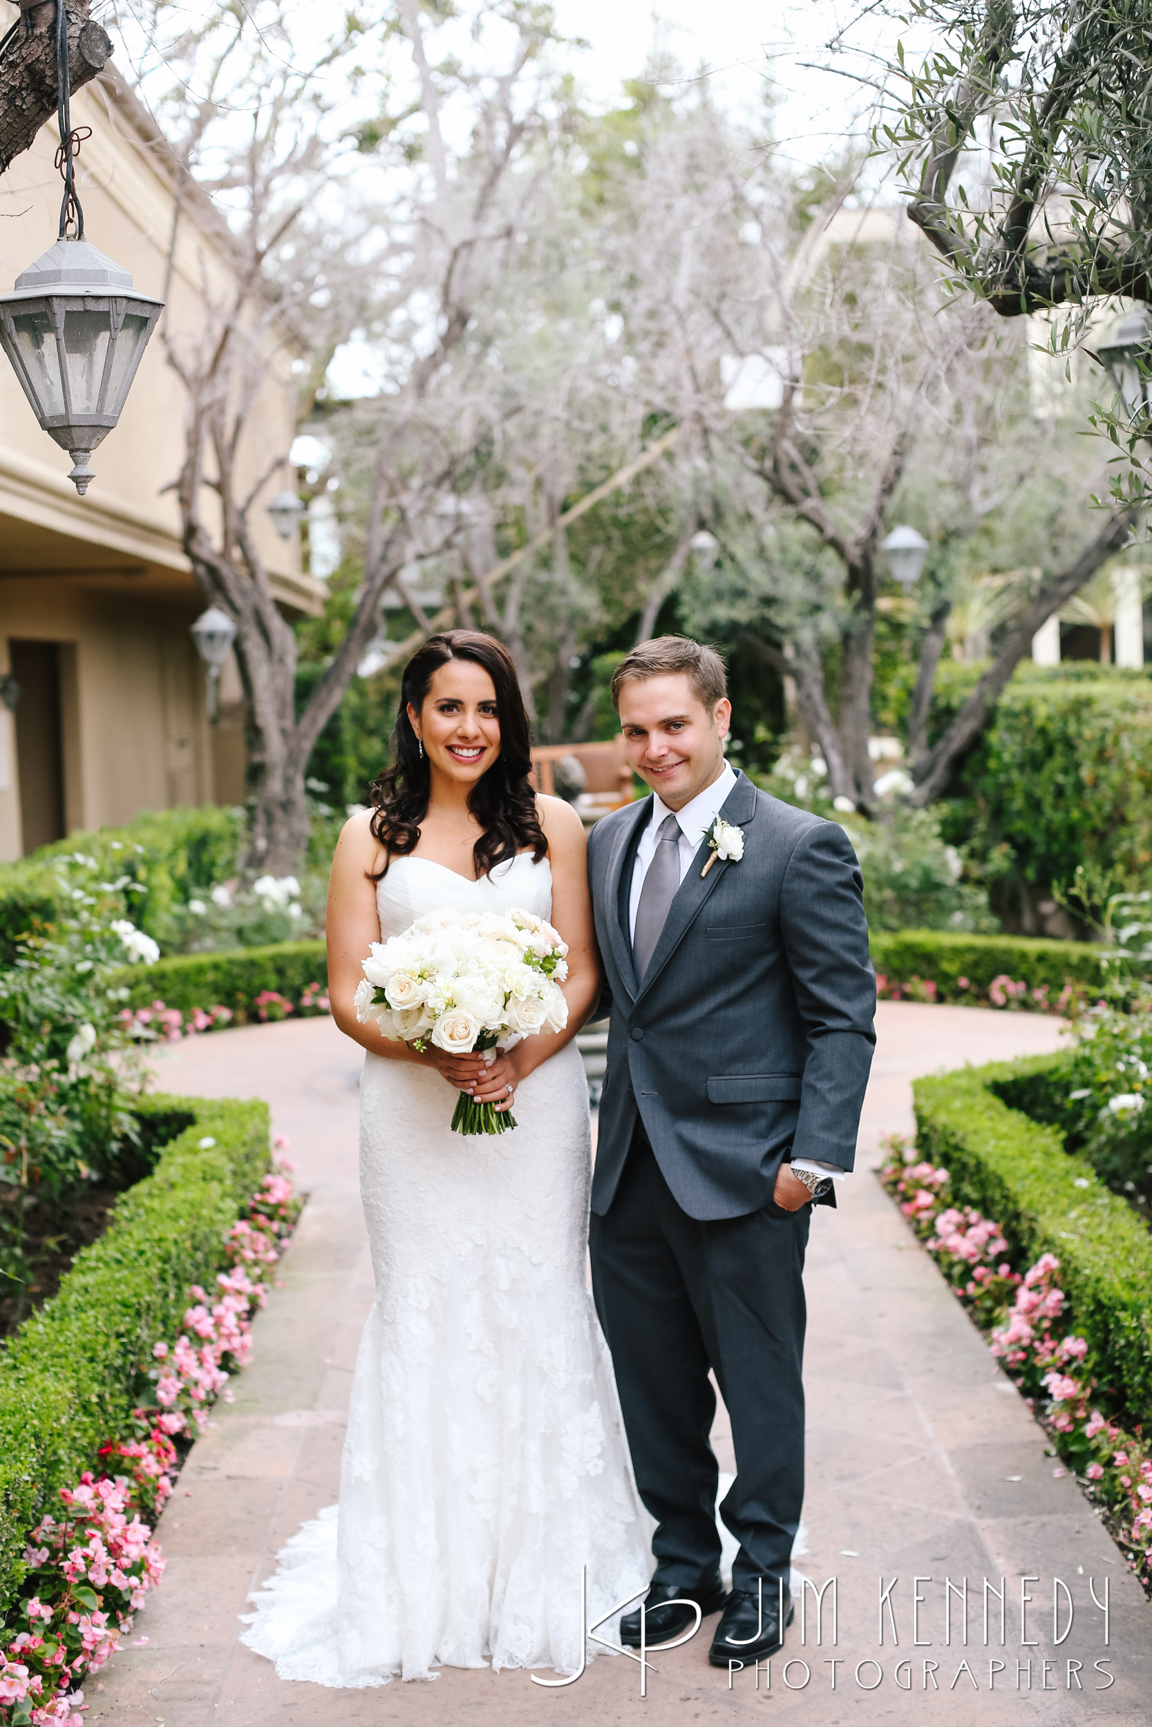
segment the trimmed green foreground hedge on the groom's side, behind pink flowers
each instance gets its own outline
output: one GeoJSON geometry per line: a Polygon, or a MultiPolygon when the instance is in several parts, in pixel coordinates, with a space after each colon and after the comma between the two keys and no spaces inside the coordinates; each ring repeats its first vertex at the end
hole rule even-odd
{"type": "MultiPolygon", "coordinates": [[[[1152,1233],[1055,1128],[993,1088],[1040,1081],[1066,1057],[1038,1055],[914,1085],[917,1145],[952,1174],[957,1204],[993,1218],[1029,1261],[1055,1254],[1081,1333],[1131,1420],[1152,1416],[1152,1233]],[[1079,1185],[1078,1185],[1079,1183],[1079,1185]]],[[[1021,1090],[1017,1090],[1021,1095],[1021,1090]]]]}

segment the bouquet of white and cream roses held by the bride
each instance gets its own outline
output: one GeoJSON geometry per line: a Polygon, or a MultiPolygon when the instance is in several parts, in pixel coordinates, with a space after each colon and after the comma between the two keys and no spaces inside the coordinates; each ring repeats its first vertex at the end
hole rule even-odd
{"type": "MultiPolygon", "coordinates": [[[[401,936],[373,941],[356,988],[356,1017],[385,1038],[451,1055],[563,1031],[567,945],[532,912],[428,912],[401,936]]],[[[454,1133],[506,1133],[516,1123],[459,1093],[454,1133]]]]}

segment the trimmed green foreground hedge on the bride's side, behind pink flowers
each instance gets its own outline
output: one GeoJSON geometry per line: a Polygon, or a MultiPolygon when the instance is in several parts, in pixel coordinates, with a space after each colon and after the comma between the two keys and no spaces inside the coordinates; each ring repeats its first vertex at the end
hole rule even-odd
{"type": "Polygon", "coordinates": [[[22,1577],[28,1530],[102,1444],[130,1432],[140,1364],[180,1333],[188,1285],[223,1266],[223,1235],[268,1169],[266,1104],[157,1095],[135,1109],[145,1138],[176,1136],[59,1294],[0,1345],[0,1611],[22,1577]]]}

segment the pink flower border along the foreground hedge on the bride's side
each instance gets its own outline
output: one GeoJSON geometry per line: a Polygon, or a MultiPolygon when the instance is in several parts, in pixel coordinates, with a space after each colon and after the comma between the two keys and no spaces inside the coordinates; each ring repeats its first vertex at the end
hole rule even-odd
{"type": "MultiPolygon", "coordinates": [[[[287,1145],[280,1135],[276,1148],[287,1145]]],[[[173,1440],[204,1430],[211,1404],[231,1401],[230,1376],[252,1357],[252,1314],[268,1300],[266,1278],[292,1233],[292,1167],[282,1157],[264,1176],[249,1218],[225,1237],[216,1288],[193,1283],[183,1332],[152,1345],[152,1364],[142,1364],[152,1397],[133,1411],[133,1437],[104,1445],[95,1468],[60,1489],[60,1508],[28,1535],[24,1596],[16,1625],[0,1634],[2,1727],[83,1727],[83,1679],[123,1648],[136,1608],[164,1575],[152,1523],[180,1468],[173,1440]]]]}

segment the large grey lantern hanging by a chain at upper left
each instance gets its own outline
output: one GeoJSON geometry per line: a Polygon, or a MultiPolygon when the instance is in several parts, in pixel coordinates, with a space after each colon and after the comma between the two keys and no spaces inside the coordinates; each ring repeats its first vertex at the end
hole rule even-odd
{"type": "Polygon", "coordinates": [[[0,295],[0,347],[43,430],[71,452],[69,480],[83,497],[93,477],[88,456],[119,420],[164,302],[136,294],[128,271],[85,240],[73,162],[88,128],[73,131],[69,114],[64,0],[57,0],[55,62],[60,231],[21,271],[14,292],[0,295]]]}

